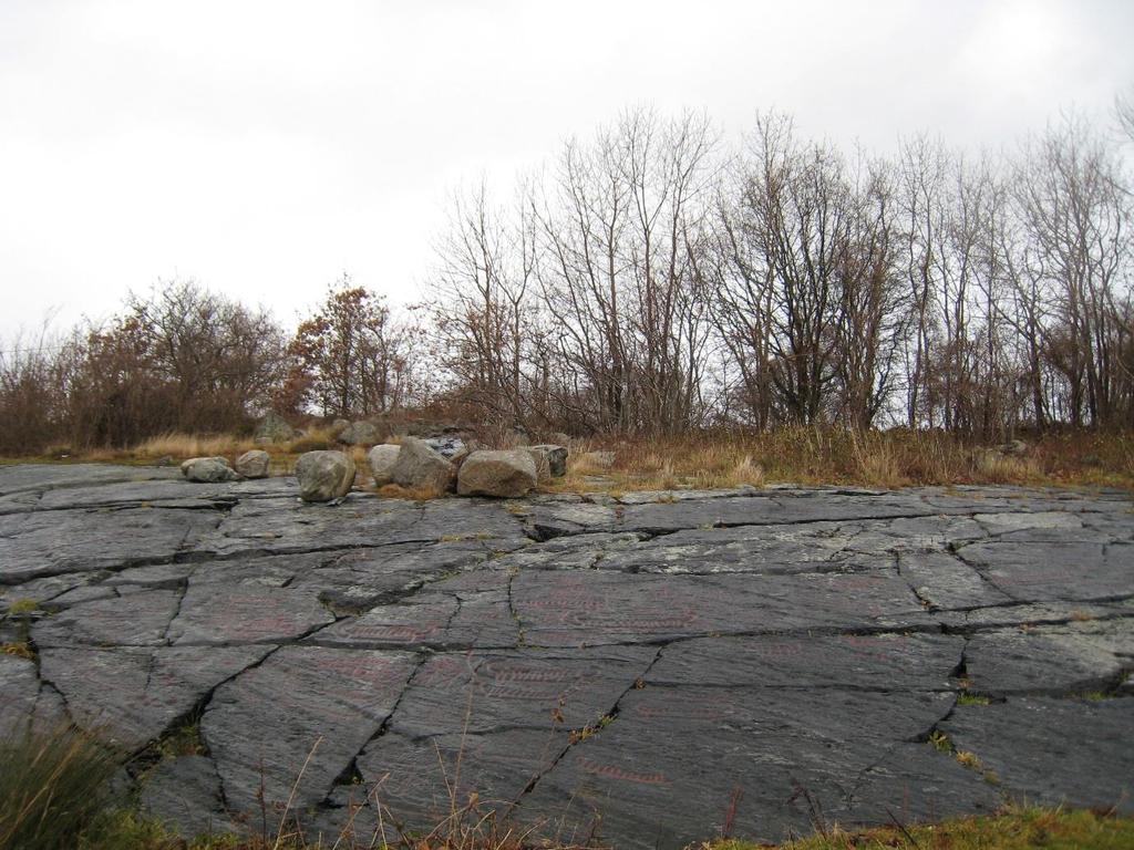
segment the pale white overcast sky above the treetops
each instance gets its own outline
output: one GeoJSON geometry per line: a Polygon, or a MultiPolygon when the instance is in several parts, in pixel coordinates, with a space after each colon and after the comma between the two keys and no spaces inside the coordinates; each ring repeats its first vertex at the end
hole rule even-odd
{"type": "Polygon", "coordinates": [[[1134,85],[1131,0],[0,0],[0,337],[193,278],[417,297],[446,199],[631,104],[1013,144],[1134,85]]]}

